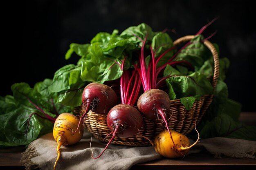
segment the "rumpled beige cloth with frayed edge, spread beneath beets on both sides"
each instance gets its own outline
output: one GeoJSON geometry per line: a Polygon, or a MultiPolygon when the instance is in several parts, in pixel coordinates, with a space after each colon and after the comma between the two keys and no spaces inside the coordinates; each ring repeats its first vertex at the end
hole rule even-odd
{"type": "MultiPolygon", "coordinates": [[[[163,158],[155,152],[153,146],[129,147],[110,144],[101,157],[92,159],[91,139],[94,157],[98,156],[106,144],[85,131],[79,143],[61,146],[61,158],[56,170],[129,170],[137,163],[163,158]]],[[[46,134],[29,144],[22,153],[20,162],[26,170],[52,170],[57,157],[56,146],[52,133],[46,134]]],[[[189,153],[202,150],[207,150],[218,158],[225,155],[256,159],[256,141],[220,137],[204,139],[198,142],[189,153]]]]}

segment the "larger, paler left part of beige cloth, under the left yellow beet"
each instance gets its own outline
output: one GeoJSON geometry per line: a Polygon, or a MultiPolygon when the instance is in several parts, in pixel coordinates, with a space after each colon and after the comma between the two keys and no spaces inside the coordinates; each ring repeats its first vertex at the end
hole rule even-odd
{"type": "MultiPolygon", "coordinates": [[[[52,133],[46,134],[29,144],[22,153],[20,162],[26,170],[53,170],[57,158],[56,146],[52,133]]],[[[137,163],[161,158],[153,146],[129,147],[110,144],[101,157],[92,159],[92,151],[94,157],[97,157],[105,147],[106,143],[85,131],[77,144],[61,146],[61,157],[56,170],[129,170],[137,163]]]]}

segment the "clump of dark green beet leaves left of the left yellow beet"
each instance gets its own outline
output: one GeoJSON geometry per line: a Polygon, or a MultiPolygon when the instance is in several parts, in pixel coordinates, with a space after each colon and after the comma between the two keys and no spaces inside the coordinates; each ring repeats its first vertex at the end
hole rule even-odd
{"type": "Polygon", "coordinates": [[[41,118],[45,113],[54,120],[60,113],[72,111],[72,108],[58,104],[57,94],[47,90],[51,83],[51,79],[45,79],[34,88],[27,83],[16,83],[11,86],[13,96],[0,98],[0,147],[26,146],[52,132],[53,123],[41,118]],[[31,116],[35,113],[41,117],[31,116]]]}

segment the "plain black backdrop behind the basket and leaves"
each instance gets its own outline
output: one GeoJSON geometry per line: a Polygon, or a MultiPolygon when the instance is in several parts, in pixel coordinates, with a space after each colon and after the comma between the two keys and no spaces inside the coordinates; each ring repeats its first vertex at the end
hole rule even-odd
{"type": "Polygon", "coordinates": [[[250,1],[33,0],[15,4],[15,9],[13,4],[2,15],[7,39],[2,39],[1,96],[12,95],[13,83],[34,86],[53,78],[58,68],[76,64],[78,57],[65,60],[69,44],[89,43],[98,32],[121,33],[145,22],[153,31],[175,30],[170,32],[175,40],[219,17],[203,35],[217,30],[210,41],[220,46],[220,57],[230,60],[229,98],[243,104],[242,111],[256,111],[256,15],[250,1]]]}

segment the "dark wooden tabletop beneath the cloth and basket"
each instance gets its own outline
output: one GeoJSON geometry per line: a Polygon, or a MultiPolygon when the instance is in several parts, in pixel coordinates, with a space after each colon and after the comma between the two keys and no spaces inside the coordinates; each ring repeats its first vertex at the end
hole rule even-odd
{"type": "MultiPolygon", "coordinates": [[[[255,124],[256,113],[241,114],[240,121],[255,124]]],[[[24,147],[0,148],[0,170],[25,170],[20,164],[24,147]]],[[[186,155],[183,159],[159,159],[132,166],[130,170],[256,170],[256,159],[214,158],[209,153],[186,155]]]]}

